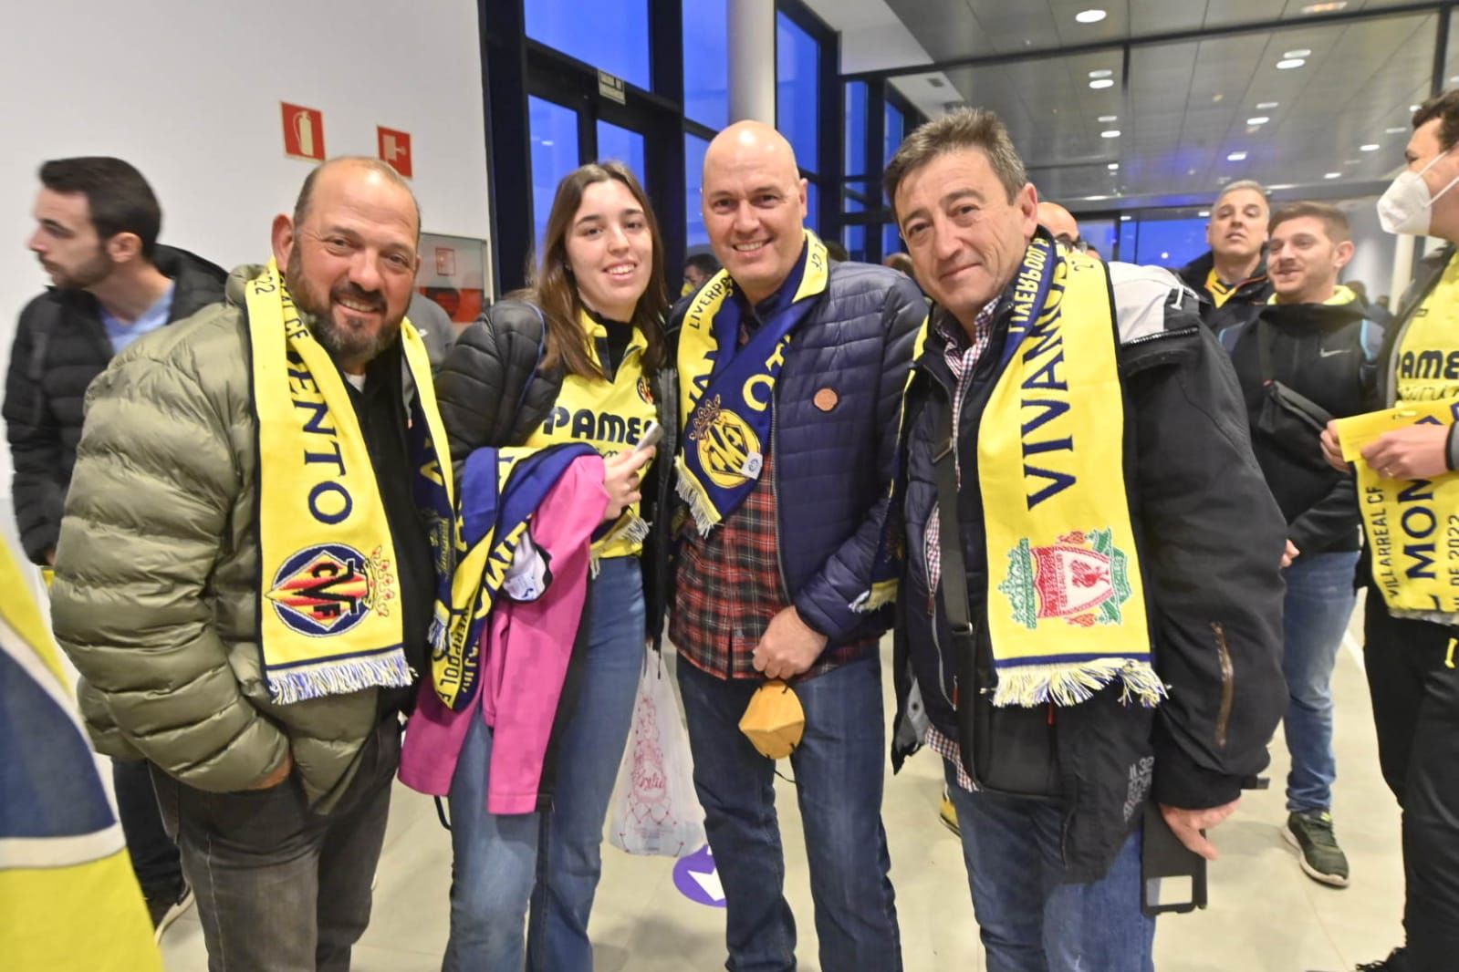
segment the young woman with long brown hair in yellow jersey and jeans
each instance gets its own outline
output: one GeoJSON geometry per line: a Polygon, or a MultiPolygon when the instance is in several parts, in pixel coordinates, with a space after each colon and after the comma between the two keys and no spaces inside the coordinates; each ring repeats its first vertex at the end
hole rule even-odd
{"type": "Polygon", "coordinates": [[[495,733],[471,708],[449,784],[451,937],[445,969],[589,972],[588,918],[603,869],[608,799],[643,665],[639,555],[648,533],[635,444],[657,420],[665,360],[664,242],[622,162],[585,165],[559,185],[541,267],[525,291],[467,328],[441,370],[441,412],[458,466],[483,446],[589,443],[605,458],[608,516],[592,548],[581,686],[552,730],[550,810],[487,812],[495,733]],[[531,934],[524,941],[522,920],[531,934]]]}

